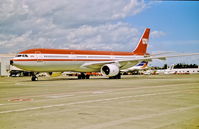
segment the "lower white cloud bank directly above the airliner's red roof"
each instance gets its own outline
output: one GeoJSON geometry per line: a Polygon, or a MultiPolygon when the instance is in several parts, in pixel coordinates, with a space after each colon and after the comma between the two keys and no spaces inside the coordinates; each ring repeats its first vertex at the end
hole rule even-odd
{"type": "MultiPolygon", "coordinates": [[[[10,35],[0,41],[0,51],[21,51],[28,48],[65,48],[89,50],[132,50],[136,46],[138,30],[126,23],[82,25],[78,28],[55,28],[42,32],[10,35]]],[[[0,35],[0,38],[4,36],[0,35]]]]}

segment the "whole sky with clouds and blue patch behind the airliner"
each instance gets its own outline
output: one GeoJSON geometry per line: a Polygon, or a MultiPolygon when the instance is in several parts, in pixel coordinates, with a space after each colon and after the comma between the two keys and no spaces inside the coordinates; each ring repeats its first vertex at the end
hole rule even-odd
{"type": "MultiPolygon", "coordinates": [[[[199,2],[0,0],[0,53],[30,48],[132,51],[146,27],[148,52],[199,53],[199,2]]],[[[196,63],[180,57],[165,63],[196,63]]]]}

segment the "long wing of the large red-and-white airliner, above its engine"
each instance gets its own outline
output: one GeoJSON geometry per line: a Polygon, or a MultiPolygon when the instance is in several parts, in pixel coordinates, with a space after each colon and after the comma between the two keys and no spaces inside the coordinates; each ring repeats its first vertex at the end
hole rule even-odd
{"type": "MultiPolygon", "coordinates": [[[[115,63],[118,67],[122,67],[128,63],[137,64],[140,61],[152,61],[153,59],[166,60],[166,58],[172,57],[181,57],[181,56],[193,56],[199,55],[199,53],[191,53],[191,54],[178,54],[178,55],[169,55],[169,56],[150,56],[150,57],[141,57],[135,59],[123,59],[123,60],[113,60],[113,61],[104,61],[104,62],[89,62],[82,65],[82,67],[88,67],[93,69],[99,69],[105,64],[115,63]]],[[[132,66],[131,66],[132,67],[132,66]]]]}

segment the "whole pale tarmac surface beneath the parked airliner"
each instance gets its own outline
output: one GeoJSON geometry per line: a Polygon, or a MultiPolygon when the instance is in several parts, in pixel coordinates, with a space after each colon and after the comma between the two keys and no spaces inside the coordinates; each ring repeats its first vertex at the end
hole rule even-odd
{"type": "Polygon", "coordinates": [[[0,129],[199,129],[199,74],[0,77],[0,129]]]}

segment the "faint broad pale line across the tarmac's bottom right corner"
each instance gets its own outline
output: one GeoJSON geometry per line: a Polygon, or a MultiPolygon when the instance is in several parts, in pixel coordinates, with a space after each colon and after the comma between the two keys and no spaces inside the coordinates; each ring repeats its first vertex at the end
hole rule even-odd
{"type": "Polygon", "coordinates": [[[83,127],[80,129],[101,129],[101,128],[111,128],[111,126],[117,126],[123,123],[127,123],[130,121],[138,121],[138,120],[144,120],[144,119],[150,119],[154,117],[159,117],[159,116],[165,116],[165,115],[170,115],[178,112],[183,112],[187,110],[193,110],[199,108],[199,105],[194,105],[194,106],[189,106],[189,107],[181,107],[181,108],[176,108],[168,111],[164,111],[161,113],[153,113],[149,115],[140,115],[140,116],[135,116],[135,117],[128,117],[128,118],[123,118],[119,120],[114,120],[114,121],[109,121],[109,122],[104,122],[100,124],[95,124],[87,127],[83,127]]]}

